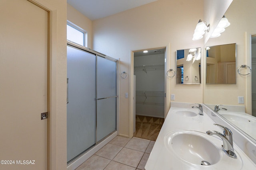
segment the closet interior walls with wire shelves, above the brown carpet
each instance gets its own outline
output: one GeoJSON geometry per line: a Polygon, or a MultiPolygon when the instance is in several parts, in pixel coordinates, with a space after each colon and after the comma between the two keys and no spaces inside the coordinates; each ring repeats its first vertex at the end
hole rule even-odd
{"type": "Polygon", "coordinates": [[[164,118],[164,50],[134,53],[136,115],[164,118]]]}

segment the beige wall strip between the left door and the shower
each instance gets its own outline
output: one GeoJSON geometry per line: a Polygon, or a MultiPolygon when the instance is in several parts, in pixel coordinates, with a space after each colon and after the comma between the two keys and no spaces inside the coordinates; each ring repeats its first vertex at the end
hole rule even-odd
{"type": "Polygon", "coordinates": [[[66,0],[34,0],[52,11],[50,168],[64,170],[66,154],[66,0]]]}

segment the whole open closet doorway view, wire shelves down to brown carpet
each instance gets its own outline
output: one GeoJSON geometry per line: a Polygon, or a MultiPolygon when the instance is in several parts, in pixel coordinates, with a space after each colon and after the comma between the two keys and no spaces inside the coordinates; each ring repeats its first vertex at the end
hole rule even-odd
{"type": "Polygon", "coordinates": [[[156,141],[164,122],[165,51],[134,52],[134,137],[156,141]]]}

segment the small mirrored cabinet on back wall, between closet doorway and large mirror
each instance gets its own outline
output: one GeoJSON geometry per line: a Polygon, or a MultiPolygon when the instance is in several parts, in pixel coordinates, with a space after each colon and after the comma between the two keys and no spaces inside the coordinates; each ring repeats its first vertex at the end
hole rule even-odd
{"type": "Polygon", "coordinates": [[[201,48],[177,50],[176,84],[201,83],[201,48]]]}

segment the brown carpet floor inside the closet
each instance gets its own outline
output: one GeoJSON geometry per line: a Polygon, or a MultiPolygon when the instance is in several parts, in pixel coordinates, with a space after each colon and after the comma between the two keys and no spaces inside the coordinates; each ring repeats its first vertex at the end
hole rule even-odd
{"type": "Polygon", "coordinates": [[[136,131],[134,137],[156,141],[164,118],[136,115],[136,131]]]}

